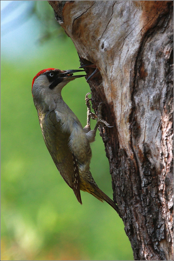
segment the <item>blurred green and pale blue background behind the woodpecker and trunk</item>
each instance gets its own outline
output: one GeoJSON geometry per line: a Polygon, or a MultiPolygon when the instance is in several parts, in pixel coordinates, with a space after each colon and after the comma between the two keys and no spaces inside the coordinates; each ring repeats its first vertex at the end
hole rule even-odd
{"type": "MultiPolygon", "coordinates": [[[[1,1],[2,9],[11,2],[1,1]]],[[[32,6],[31,15],[20,5],[2,23],[1,260],[133,260],[118,214],[88,193],[81,192],[82,206],[77,202],[41,134],[32,79],[45,68],[77,69],[75,47],[55,23],[47,1],[15,2],[32,6]],[[19,21],[21,13],[27,16],[15,25],[13,19],[19,21]]],[[[70,82],[62,91],[83,126],[87,92],[90,88],[84,78],[70,82]]],[[[109,163],[99,131],[92,154],[92,175],[112,198],[109,163]]]]}

